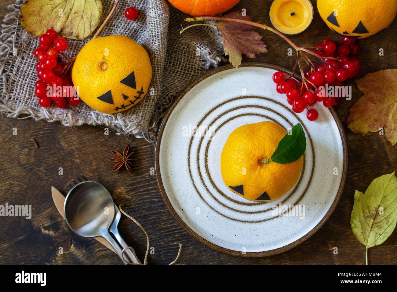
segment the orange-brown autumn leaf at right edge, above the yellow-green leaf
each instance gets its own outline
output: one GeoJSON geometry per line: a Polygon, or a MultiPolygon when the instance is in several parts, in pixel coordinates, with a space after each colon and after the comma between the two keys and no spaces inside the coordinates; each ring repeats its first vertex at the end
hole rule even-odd
{"type": "Polygon", "coordinates": [[[352,106],[346,124],[354,133],[385,129],[391,145],[397,143],[397,69],[369,73],[356,81],[364,95],[352,106]]]}

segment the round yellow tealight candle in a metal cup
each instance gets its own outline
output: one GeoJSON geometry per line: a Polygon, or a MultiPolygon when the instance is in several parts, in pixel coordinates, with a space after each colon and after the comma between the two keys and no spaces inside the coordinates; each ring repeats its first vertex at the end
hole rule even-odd
{"type": "Polygon", "coordinates": [[[270,21],[285,35],[303,32],[313,19],[313,6],[309,0],[274,0],[270,6],[270,21]]]}

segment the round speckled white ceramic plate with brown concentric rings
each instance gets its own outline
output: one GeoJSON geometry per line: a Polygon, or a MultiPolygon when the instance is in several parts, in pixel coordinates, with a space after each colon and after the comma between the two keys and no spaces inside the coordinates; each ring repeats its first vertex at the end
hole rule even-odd
{"type": "Polygon", "coordinates": [[[183,91],[160,126],[155,160],[164,201],[189,234],[218,251],[252,257],[293,248],[330,217],[345,184],[347,147],[335,113],[316,105],[315,122],[295,114],[276,92],[276,70],[287,72],[263,63],[214,69],[183,91]],[[301,123],[307,147],[295,187],[256,203],[227,189],[220,155],[233,130],[267,120],[285,129],[301,123]],[[282,208],[291,210],[288,216],[282,208]]]}

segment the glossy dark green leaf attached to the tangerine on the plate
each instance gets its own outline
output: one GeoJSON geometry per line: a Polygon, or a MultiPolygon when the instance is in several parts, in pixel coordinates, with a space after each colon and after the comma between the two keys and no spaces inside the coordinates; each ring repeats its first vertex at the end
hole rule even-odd
{"type": "Polygon", "coordinates": [[[306,150],[306,136],[301,124],[293,126],[278,143],[270,160],[276,163],[289,163],[298,160],[306,150]]]}

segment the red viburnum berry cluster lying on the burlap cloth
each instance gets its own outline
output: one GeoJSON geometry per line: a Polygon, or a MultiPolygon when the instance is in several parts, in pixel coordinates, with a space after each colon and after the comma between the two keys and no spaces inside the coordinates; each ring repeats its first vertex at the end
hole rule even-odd
{"type": "Polygon", "coordinates": [[[73,59],[67,58],[62,51],[67,49],[67,41],[58,37],[54,29],[48,29],[39,38],[39,48],[35,49],[35,57],[39,60],[36,64],[37,77],[35,83],[35,95],[39,98],[40,106],[47,107],[54,101],[59,108],[66,106],[66,101],[75,106],[79,104],[79,97],[74,96],[71,76],[67,73],[73,59]],[[58,56],[62,55],[67,62],[58,62],[58,56]],[[62,90],[54,90],[60,89],[62,90]]]}

